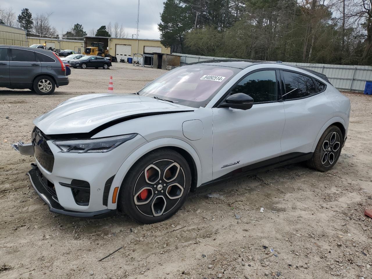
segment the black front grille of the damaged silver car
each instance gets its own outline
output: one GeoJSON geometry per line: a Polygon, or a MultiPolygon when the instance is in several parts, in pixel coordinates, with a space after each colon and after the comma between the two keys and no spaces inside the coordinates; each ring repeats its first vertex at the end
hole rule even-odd
{"type": "Polygon", "coordinates": [[[54,155],[50,150],[47,139],[39,128],[35,127],[32,131],[32,144],[35,147],[35,158],[49,172],[53,171],[54,155]]]}

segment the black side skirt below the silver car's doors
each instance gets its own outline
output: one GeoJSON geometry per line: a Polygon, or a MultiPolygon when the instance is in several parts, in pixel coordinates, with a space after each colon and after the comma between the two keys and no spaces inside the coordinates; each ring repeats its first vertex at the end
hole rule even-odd
{"type": "Polygon", "coordinates": [[[262,172],[266,170],[275,169],[277,167],[282,167],[288,164],[307,161],[312,157],[312,154],[313,154],[312,152],[310,153],[293,152],[293,153],[289,153],[285,155],[280,155],[279,157],[271,158],[268,160],[264,160],[258,163],[254,163],[254,164],[233,170],[230,173],[227,173],[221,177],[205,182],[199,187],[224,182],[226,180],[231,180],[233,178],[237,179],[239,177],[247,176],[250,174],[254,174],[254,173],[258,173],[258,172],[262,172]]]}

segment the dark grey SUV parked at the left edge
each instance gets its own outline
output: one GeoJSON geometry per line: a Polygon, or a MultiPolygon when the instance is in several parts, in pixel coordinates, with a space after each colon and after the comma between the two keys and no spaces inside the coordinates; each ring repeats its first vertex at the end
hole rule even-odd
{"type": "Polygon", "coordinates": [[[53,51],[0,45],[0,87],[48,95],[67,84],[66,66],[53,51]]]}

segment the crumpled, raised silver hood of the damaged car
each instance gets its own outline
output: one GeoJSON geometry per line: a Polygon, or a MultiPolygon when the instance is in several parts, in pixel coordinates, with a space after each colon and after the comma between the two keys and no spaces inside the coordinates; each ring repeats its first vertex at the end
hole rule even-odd
{"type": "Polygon", "coordinates": [[[66,100],[34,119],[33,124],[46,135],[88,133],[131,115],[190,110],[195,108],[135,94],[87,94],[66,100]]]}

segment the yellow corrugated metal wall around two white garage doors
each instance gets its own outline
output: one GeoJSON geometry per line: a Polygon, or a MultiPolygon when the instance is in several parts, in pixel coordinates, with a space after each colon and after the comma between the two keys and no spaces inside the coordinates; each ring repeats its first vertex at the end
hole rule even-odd
{"type": "Polygon", "coordinates": [[[132,46],[132,56],[134,53],[144,53],[144,48],[146,47],[161,47],[161,52],[170,54],[170,48],[164,47],[160,41],[157,40],[137,40],[137,39],[117,39],[112,38],[109,41],[109,53],[115,56],[116,44],[119,45],[131,45],[132,46]]]}

